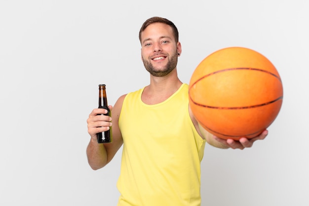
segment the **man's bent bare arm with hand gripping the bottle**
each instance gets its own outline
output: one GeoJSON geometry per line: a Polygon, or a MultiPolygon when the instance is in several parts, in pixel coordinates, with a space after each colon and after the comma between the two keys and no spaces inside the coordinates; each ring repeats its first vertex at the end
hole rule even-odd
{"type": "Polygon", "coordinates": [[[90,142],[87,146],[88,163],[92,169],[99,169],[107,165],[115,156],[121,147],[123,141],[118,126],[119,115],[125,95],[119,97],[114,108],[109,106],[112,111],[112,117],[98,115],[106,114],[105,109],[94,109],[87,119],[88,133],[90,134],[90,142]],[[112,122],[111,122],[112,121],[112,122]],[[112,126],[113,142],[99,144],[97,142],[97,133],[107,131],[112,126]]]}

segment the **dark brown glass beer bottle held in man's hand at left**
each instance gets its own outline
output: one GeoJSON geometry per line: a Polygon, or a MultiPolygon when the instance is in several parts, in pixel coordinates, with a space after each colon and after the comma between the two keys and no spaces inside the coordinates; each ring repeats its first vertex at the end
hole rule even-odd
{"type": "MultiPolygon", "coordinates": [[[[99,84],[99,108],[103,108],[108,111],[107,114],[102,114],[102,115],[111,116],[111,111],[108,108],[108,104],[107,104],[105,84],[99,84]]],[[[107,131],[97,133],[97,139],[98,139],[98,143],[112,142],[112,127],[110,127],[110,129],[107,131]]]]}

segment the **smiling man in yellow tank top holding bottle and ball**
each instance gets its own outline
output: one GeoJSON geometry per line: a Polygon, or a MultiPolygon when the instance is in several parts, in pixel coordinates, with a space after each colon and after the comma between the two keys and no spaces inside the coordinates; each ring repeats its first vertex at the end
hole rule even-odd
{"type": "Polygon", "coordinates": [[[164,18],[150,18],[142,25],[139,39],[150,84],[120,96],[112,118],[98,115],[106,114],[104,109],[91,112],[87,120],[89,165],[93,169],[107,165],[123,144],[118,206],[200,206],[205,142],[243,149],[264,139],[268,131],[239,141],[207,132],[189,107],[188,84],[177,76],[182,48],[175,25],[164,18]],[[98,144],[96,133],[108,130],[112,123],[113,143],[98,144]]]}

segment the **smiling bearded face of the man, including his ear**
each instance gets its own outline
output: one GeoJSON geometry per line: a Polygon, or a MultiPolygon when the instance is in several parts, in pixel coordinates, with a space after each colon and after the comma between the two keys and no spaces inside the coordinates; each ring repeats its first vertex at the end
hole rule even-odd
{"type": "Polygon", "coordinates": [[[142,60],[146,70],[155,77],[168,75],[176,68],[181,45],[173,30],[163,23],[149,25],[141,34],[142,60]]]}

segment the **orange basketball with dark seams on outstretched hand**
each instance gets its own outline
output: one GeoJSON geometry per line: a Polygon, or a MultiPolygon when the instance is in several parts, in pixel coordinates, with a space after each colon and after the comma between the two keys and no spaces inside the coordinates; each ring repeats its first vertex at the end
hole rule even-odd
{"type": "Polygon", "coordinates": [[[258,136],[273,123],[282,100],[276,68],[259,52],[244,47],[210,54],[189,83],[189,105],[196,120],[223,139],[258,136]]]}

